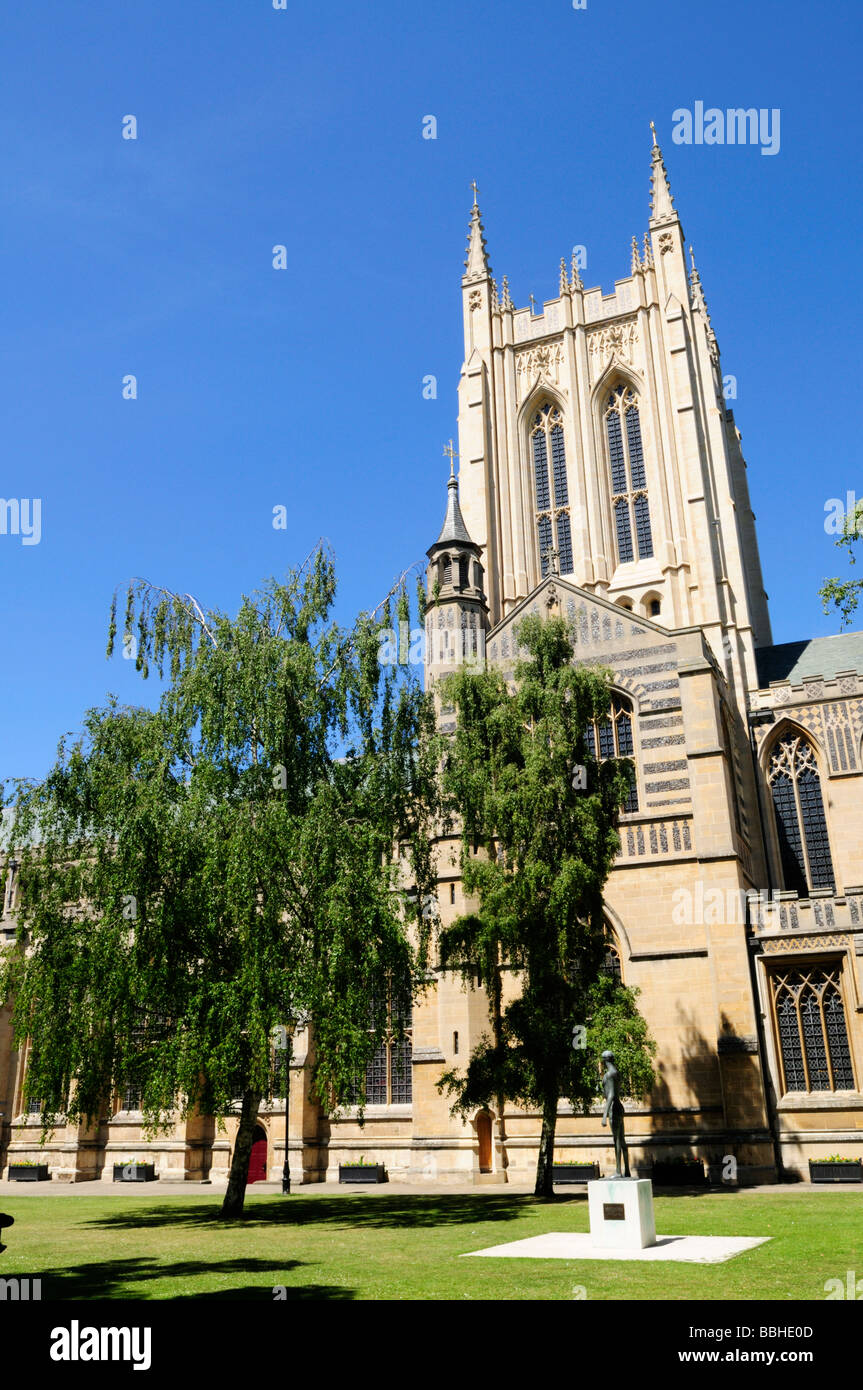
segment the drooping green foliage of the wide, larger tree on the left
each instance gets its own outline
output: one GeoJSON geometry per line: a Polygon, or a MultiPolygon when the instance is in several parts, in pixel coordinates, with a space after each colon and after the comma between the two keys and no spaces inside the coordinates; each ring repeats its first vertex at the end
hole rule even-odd
{"type": "Polygon", "coordinates": [[[0,997],[46,1133],[128,1084],[150,1129],[271,1094],[290,1015],[314,1019],[318,1094],[343,1102],[388,980],[422,976],[434,716],[378,663],[379,616],[331,621],[335,589],[320,549],[233,619],[135,581],[124,641],[167,680],[158,708],[90,710],[46,780],[15,785],[0,997]]]}

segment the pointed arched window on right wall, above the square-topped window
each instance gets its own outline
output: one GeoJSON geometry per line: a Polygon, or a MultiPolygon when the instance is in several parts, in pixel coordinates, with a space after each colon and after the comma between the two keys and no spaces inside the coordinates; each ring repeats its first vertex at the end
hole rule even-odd
{"type": "Polygon", "coordinates": [[[785,888],[803,897],[834,888],[835,878],[814,749],[802,734],[785,734],[767,764],[785,888]]]}

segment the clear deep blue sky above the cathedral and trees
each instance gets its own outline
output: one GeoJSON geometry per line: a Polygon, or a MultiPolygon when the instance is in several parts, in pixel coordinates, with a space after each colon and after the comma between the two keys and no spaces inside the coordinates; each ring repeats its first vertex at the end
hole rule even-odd
{"type": "Polygon", "coordinates": [[[824,505],[863,491],[860,39],[848,0],[7,11],[0,495],[42,499],[42,541],[0,535],[0,777],[43,774],[108,691],[156,694],[104,662],[128,575],[232,609],[324,535],[347,620],[422,557],[470,181],[517,303],[557,293],[575,243],[610,291],[646,229],[650,118],[738,378],[774,641],[838,631],[817,588],[844,573],[824,505]],[[675,146],[696,100],[778,107],[778,154],[675,146]]]}

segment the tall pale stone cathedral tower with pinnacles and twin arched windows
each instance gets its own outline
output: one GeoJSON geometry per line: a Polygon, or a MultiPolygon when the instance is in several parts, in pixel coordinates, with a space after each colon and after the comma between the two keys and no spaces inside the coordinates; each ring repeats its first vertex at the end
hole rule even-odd
{"type": "Polygon", "coordinates": [[[575,264],[541,313],[499,292],[474,202],[461,279],[461,506],[492,626],[548,571],[663,627],[700,627],[738,705],[770,642],[746,466],[661,150],[614,293],[575,264]],[[549,463],[552,475],[549,477],[549,463]]]}

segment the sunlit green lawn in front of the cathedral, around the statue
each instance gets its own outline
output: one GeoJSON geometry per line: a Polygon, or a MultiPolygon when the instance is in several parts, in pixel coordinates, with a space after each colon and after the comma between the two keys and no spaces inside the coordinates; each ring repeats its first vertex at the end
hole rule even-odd
{"type": "Polygon", "coordinates": [[[660,1234],[771,1236],[724,1265],[459,1259],[552,1230],[588,1230],[584,1195],[0,1197],[15,1218],[0,1276],[40,1275],[43,1298],[824,1300],[863,1277],[863,1197],[716,1193],[656,1198],[660,1234]]]}

